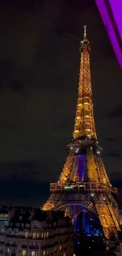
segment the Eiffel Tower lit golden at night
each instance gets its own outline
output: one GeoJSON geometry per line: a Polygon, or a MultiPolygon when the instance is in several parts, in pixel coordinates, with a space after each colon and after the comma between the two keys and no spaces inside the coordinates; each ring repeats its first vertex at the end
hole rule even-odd
{"type": "Polygon", "coordinates": [[[51,183],[51,195],[42,209],[63,209],[73,221],[81,210],[88,209],[99,218],[104,236],[110,238],[120,230],[118,206],[112,196],[117,194],[117,189],[110,184],[101,158],[102,149],[97,142],[91,90],[91,48],[86,38],[86,26],[79,49],[81,63],[73,137],[59,180],[51,183]]]}

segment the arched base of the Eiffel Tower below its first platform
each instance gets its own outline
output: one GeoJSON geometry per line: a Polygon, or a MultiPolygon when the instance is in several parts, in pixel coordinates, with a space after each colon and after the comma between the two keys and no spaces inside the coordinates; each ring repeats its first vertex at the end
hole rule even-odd
{"type": "Polygon", "coordinates": [[[99,217],[101,226],[106,238],[109,238],[111,233],[117,233],[120,230],[114,209],[117,209],[117,204],[111,194],[51,194],[43,210],[59,210],[67,208],[71,205],[81,205],[92,211],[99,217]]]}

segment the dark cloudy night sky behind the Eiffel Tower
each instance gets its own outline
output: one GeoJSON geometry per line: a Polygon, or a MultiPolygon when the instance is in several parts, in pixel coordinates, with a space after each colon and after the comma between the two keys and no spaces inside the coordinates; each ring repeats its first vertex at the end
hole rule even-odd
{"type": "Polygon", "coordinates": [[[2,204],[40,204],[49,195],[49,183],[58,180],[74,126],[80,64],[76,38],[83,38],[85,24],[92,49],[98,141],[109,178],[122,191],[122,75],[95,1],[4,0],[0,3],[2,204]]]}

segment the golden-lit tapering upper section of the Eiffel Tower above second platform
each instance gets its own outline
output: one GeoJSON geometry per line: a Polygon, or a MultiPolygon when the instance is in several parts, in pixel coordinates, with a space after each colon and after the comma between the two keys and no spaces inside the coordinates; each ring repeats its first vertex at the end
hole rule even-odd
{"type": "Polygon", "coordinates": [[[84,136],[97,139],[92,103],[89,46],[84,45],[80,48],[81,64],[73,139],[84,136]]]}

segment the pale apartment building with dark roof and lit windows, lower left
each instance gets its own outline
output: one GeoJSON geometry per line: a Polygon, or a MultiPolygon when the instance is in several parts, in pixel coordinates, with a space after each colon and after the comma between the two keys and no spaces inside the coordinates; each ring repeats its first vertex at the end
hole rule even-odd
{"type": "Polygon", "coordinates": [[[3,209],[2,215],[9,222],[0,226],[0,256],[73,256],[73,227],[63,211],[3,209]]]}

